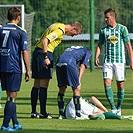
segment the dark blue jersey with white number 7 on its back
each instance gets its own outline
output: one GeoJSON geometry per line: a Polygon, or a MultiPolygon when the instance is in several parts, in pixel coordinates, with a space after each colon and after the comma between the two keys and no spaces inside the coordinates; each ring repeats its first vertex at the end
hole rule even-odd
{"type": "Polygon", "coordinates": [[[21,73],[21,51],[27,50],[27,33],[8,23],[0,28],[0,71],[21,73]]]}

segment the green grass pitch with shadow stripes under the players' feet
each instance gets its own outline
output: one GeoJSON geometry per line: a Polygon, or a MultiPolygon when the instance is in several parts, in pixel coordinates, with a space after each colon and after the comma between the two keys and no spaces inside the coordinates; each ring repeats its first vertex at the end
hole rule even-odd
{"type": "MultiPolygon", "coordinates": [[[[122,105],[122,115],[133,115],[133,72],[127,70],[127,77],[125,82],[125,99],[122,105]]],[[[17,114],[18,120],[23,126],[22,133],[133,133],[133,121],[130,120],[58,120],[57,109],[57,81],[55,72],[53,79],[50,81],[47,100],[47,111],[52,114],[53,119],[31,119],[31,106],[30,106],[30,90],[33,86],[33,79],[28,83],[23,82],[21,91],[18,93],[17,98],[17,114]]],[[[113,80],[112,88],[114,91],[115,102],[116,98],[116,82],[113,80]]],[[[96,69],[94,72],[86,70],[82,78],[81,96],[90,97],[96,96],[110,111],[110,106],[105,97],[101,69],[96,69]]],[[[71,88],[65,94],[65,103],[72,97],[71,88]]],[[[2,107],[4,108],[6,95],[3,93],[1,100],[2,107]]],[[[0,109],[0,125],[3,120],[3,108],[0,109]]],[[[37,106],[39,112],[39,104],[37,106]]],[[[12,124],[12,123],[11,123],[12,124]]],[[[2,133],[2,132],[1,132],[2,133]]]]}

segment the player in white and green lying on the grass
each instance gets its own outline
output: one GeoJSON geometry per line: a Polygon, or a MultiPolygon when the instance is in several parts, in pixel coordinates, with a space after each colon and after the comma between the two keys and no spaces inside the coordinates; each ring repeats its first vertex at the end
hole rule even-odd
{"type": "MultiPolygon", "coordinates": [[[[121,119],[120,116],[114,114],[112,112],[108,112],[108,110],[104,107],[104,105],[94,96],[90,99],[80,98],[81,103],[81,116],[84,119],[121,119]]],[[[75,106],[73,102],[73,98],[68,102],[65,108],[65,117],[67,119],[75,119],[75,106]]]]}

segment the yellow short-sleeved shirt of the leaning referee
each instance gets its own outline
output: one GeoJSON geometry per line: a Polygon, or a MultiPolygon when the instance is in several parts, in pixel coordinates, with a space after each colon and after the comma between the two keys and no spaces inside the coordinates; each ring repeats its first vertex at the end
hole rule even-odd
{"type": "Polygon", "coordinates": [[[42,47],[42,40],[46,37],[49,39],[48,51],[54,51],[55,47],[57,47],[65,34],[65,25],[63,23],[54,23],[49,26],[46,31],[42,34],[41,38],[36,43],[36,48],[42,47]]]}

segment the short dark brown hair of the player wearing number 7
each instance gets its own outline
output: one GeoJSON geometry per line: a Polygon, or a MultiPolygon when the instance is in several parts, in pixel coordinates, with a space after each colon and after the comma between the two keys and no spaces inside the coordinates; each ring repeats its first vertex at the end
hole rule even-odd
{"type": "Polygon", "coordinates": [[[21,16],[21,10],[16,7],[11,7],[8,10],[7,19],[9,21],[16,20],[18,16],[21,16]]]}

